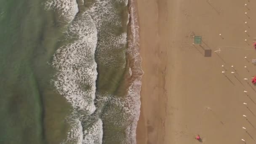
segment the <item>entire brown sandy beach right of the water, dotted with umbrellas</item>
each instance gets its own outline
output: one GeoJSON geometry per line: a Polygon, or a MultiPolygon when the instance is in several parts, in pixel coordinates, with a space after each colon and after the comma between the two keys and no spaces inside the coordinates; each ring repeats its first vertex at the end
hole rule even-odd
{"type": "Polygon", "coordinates": [[[243,104],[256,115],[256,1],[137,0],[137,6],[144,70],[137,144],[199,144],[197,134],[205,144],[256,143],[256,116],[243,104]],[[202,45],[192,45],[193,35],[203,37],[202,45]],[[204,57],[204,48],[221,51],[204,57]]]}

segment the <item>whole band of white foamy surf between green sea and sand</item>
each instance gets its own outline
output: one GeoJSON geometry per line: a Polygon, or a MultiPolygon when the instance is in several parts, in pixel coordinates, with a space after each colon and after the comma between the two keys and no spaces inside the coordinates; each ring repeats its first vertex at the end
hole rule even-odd
{"type": "Polygon", "coordinates": [[[66,120],[71,128],[62,144],[136,144],[143,72],[133,1],[47,0],[45,10],[55,11],[58,21],[65,24],[63,43],[51,62],[56,69],[51,83],[73,108],[66,120]],[[127,7],[125,22],[116,4],[127,7]],[[112,30],[124,23],[128,30],[112,30]],[[130,59],[130,64],[123,58],[130,59]],[[99,64],[115,70],[128,67],[125,96],[97,90],[99,64]]]}

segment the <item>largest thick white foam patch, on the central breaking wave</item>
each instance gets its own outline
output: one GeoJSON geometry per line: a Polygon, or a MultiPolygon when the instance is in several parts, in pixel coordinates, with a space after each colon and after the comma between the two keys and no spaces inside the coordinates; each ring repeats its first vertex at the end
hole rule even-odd
{"type": "Polygon", "coordinates": [[[95,110],[97,30],[91,17],[85,14],[72,22],[67,34],[77,40],[54,54],[53,66],[58,69],[54,85],[75,109],[91,114],[95,110]]]}

